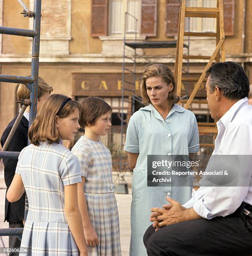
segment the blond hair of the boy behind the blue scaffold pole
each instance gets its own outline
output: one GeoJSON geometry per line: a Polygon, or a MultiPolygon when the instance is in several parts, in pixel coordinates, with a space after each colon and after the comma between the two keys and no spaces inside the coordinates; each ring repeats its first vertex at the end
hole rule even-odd
{"type": "MultiPolygon", "coordinates": [[[[40,100],[40,97],[45,92],[52,92],[53,87],[51,87],[48,83],[46,83],[42,78],[38,78],[38,101],[40,100]]],[[[27,88],[25,84],[18,84],[18,90],[17,90],[17,99],[20,100],[29,100],[30,99],[30,90],[27,88]]],[[[20,104],[20,108],[21,108],[20,104]]]]}

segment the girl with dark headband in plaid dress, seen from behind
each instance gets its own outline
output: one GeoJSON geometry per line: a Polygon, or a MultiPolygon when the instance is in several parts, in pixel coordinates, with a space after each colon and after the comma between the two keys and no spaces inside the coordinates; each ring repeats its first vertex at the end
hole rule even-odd
{"type": "Polygon", "coordinates": [[[26,255],[88,255],[77,199],[80,165],[62,144],[73,140],[78,118],[78,102],[51,95],[30,127],[32,144],[20,152],[7,199],[14,202],[27,194],[21,241],[21,247],[29,248],[26,255]]]}

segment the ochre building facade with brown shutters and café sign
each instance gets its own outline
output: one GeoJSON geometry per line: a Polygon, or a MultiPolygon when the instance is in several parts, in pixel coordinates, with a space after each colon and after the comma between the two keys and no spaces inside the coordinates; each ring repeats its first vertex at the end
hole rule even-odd
{"type": "MultiPolygon", "coordinates": [[[[31,10],[33,1],[24,0],[31,10]]],[[[240,63],[252,82],[252,0],[223,2],[227,60],[240,63]]],[[[174,41],[179,3],[180,0],[42,0],[39,76],[53,86],[54,93],[76,100],[88,95],[103,97],[112,105],[114,133],[119,133],[124,28],[127,40],[134,40],[136,32],[137,41],[174,41]],[[136,26],[133,18],[125,23],[126,11],[138,19],[136,26]]],[[[216,0],[187,0],[187,4],[211,7],[216,0]]],[[[32,19],[24,18],[20,11],[18,1],[0,0],[0,26],[32,28],[32,19]]],[[[194,18],[186,21],[186,29],[211,32],[215,23],[213,19],[194,18]]],[[[186,40],[191,55],[210,55],[215,46],[213,38],[186,40]]],[[[30,75],[30,52],[29,38],[0,35],[1,74],[30,75]]],[[[167,64],[173,70],[176,51],[175,48],[138,49],[137,53],[135,86],[140,94],[139,82],[146,58],[167,64]]],[[[199,75],[206,63],[191,61],[189,76],[199,75]]],[[[126,60],[126,67],[132,67],[130,59],[126,60]]],[[[186,62],[183,69],[187,69],[186,62]]],[[[193,85],[182,86],[182,92],[192,91],[193,85]]],[[[0,134],[18,111],[15,91],[16,84],[0,83],[0,134]]],[[[204,85],[197,97],[205,97],[204,85]]],[[[130,106],[126,103],[124,106],[127,113],[130,106]]],[[[209,114],[206,106],[196,104],[192,108],[203,115],[202,120],[209,114]]],[[[114,140],[119,141],[119,137],[114,140]]]]}

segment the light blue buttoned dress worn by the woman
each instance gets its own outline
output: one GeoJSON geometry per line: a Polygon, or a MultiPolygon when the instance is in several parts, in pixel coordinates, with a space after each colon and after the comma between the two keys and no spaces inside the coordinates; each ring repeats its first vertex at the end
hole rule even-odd
{"type": "Polygon", "coordinates": [[[167,204],[166,195],[181,204],[192,195],[189,187],[147,187],[147,155],[188,155],[199,151],[195,115],[174,104],[166,119],[152,104],[140,108],[130,120],[124,150],[139,153],[132,180],[130,256],[146,256],[143,236],[151,225],[150,209],[167,204]]]}

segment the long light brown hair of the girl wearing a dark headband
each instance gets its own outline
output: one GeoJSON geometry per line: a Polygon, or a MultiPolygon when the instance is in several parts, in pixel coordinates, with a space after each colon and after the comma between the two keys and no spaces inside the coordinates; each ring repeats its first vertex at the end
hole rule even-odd
{"type": "Polygon", "coordinates": [[[60,136],[55,126],[55,117],[66,118],[73,113],[76,108],[80,109],[80,104],[75,100],[70,100],[60,110],[61,105],[68,99],[66,95],[53,94],[43,102],[38,115],[30,126],[28,137],[30,143],[38,146],[40,142],[49,141],[60,142],[60,136]],[[60,111],[59,111],[60,110],[60,111]]]}

